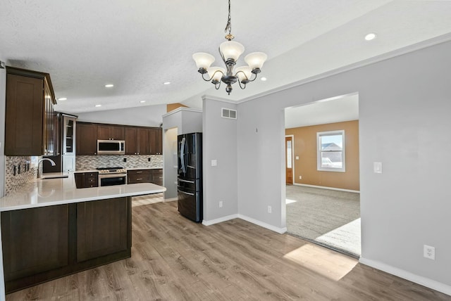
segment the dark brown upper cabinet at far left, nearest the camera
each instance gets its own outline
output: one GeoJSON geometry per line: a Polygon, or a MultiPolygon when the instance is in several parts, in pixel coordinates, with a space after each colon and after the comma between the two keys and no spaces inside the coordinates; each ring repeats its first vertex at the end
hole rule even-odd
{"type": "Polygon", "coordinates": [[[5,155],[56,155],[50,75],[6,67],[5,155]]]}

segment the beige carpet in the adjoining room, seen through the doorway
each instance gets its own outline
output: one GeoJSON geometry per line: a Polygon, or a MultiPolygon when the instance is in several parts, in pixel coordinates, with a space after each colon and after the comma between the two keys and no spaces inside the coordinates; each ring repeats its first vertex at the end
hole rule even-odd
{"type": "Polygon", "coordinates": [[[308,241],[360,257],[360,195],[287,186],[287,230],[308,241]]]}

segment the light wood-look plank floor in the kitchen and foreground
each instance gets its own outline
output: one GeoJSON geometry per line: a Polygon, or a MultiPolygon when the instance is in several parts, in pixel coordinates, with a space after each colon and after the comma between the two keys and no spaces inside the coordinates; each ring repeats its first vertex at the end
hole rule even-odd
{"type": "Polygon", "coordinates": [[[132,208],[132,257],[6,300],[451,300],[333,250],[233,219],[181,217],[176,202],[132,208]]]}

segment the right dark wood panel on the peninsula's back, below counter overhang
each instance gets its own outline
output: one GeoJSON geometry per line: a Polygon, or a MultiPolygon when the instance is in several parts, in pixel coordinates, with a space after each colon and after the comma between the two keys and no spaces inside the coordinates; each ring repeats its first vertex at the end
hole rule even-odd
{"type": "Polygon", "coordinates": [[[93,260],[131,247],[130,202],[126,198],[77,204],[77,261],[93,260]]]}

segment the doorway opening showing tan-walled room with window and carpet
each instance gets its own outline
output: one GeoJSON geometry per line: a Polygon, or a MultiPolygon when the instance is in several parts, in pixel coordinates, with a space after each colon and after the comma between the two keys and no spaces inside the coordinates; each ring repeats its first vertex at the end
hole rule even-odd
{"type": "Polygon", "coordinates": [[[356,93],[285,108],[287,233],[353,257],[361,255],[358,104],[356,93]]]}

